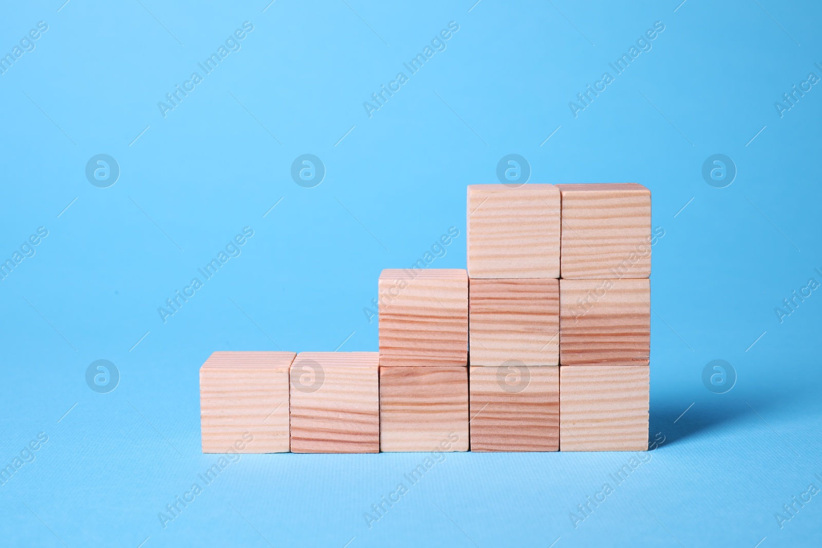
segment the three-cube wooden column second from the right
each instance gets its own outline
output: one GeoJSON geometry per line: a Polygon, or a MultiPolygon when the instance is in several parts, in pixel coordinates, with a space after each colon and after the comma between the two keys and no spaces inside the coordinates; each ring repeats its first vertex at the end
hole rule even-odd
{"type": "Polygon", "coordinates": [[[471,449],[560,446],[560,192],[468,187],[471,449]]]}

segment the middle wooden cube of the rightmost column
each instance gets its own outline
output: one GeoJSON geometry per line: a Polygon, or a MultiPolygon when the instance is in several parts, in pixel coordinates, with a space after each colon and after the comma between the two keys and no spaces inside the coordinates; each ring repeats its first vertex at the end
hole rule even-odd
{"type": "Polygon", "coordinates": [[[560,280],[560,364],[647,366],[651,284],[644,279],[560,280]]]}

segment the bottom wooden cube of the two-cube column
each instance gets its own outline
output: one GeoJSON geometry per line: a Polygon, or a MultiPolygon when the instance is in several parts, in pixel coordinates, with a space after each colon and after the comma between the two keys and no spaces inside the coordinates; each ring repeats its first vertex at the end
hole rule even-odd
{"type": "Polygon", "coordinates": [[[382,451],[467,451],[468,367],[380,367],[382,451]]]}

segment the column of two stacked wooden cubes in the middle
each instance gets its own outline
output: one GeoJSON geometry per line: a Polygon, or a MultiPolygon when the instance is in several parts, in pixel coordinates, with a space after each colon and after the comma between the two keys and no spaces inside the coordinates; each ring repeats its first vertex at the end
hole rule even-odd
{"type": "Polygon", "coordinates": [[[467,451],[468,276],[386,269],[378,293],[380,449],[467,451]]]}

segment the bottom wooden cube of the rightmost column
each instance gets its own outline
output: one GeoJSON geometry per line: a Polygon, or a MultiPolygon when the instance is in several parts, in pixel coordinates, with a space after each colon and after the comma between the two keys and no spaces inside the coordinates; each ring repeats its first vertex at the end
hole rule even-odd
{"type": "Polygon", "coordinates": [[[649,366],[561,366],[561,451],[647,451],[649,366]]]}

